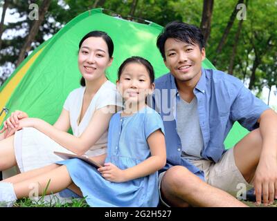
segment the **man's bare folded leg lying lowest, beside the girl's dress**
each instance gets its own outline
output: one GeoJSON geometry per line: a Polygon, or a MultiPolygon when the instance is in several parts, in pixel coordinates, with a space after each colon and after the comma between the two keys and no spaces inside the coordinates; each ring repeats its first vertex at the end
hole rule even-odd
{"type": "Polygon", "coordinates": [[[229,193],[206,184],[184,166],[172,166],[166,171],[161,195],[171,206],[246,206],[229,193]]]}

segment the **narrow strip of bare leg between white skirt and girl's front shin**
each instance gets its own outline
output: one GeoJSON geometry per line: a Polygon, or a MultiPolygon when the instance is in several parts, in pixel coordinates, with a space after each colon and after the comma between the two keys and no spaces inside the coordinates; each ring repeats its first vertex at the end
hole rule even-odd
{"type": "Polygon", "coordinates": [[[11,182],[12,184],[16,184],[17,182],[22,182],[24,180],[28,180],[28,179],[36,177],[38,175],[42,175],[49,171],[53,171],[53,169],[56,169],[59,166],[60,165],[57,165],[57,164],[51,164],[51,165],[44,166],[39,169],[33,169],[33,170],[27,171],[25,173],[19,173],[18,175],[8,177],[6,180],[3,180],[3,182],[11,182]]]}

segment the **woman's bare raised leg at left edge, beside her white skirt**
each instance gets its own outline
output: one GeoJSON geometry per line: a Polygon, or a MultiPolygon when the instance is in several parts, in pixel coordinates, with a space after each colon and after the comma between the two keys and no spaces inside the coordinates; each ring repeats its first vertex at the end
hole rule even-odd
{"type": "Polygon", "coordinates": [[[14,135],[0,141],[0,171],[10,169],[17,164],[13,147],[14,135]]]}

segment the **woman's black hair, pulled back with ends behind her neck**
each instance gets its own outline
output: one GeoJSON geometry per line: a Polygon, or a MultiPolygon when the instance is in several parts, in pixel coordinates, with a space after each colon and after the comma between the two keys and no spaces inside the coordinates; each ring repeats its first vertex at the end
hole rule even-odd
{"type": "MultiPolygon", "coordinates": [[[[111,40],[111,37],[109,37],[109,35],[106,32],[102,32],[100,30],[93,30],[93,31],[87,33],[87,35],[84,35],[84,37],[82,37],[82,39],[79,43],[79,50],[80,50],[84,40],[89,37],[102,37],[102,39],[106,42],[106,44],[108,46],[109,58],[112,57],[112,55],[114,53],[114,42],[111,40]]],[[[81,86],[86,86],[84,77],[81,78],[80,84],[81,84],[81,86]]]]}

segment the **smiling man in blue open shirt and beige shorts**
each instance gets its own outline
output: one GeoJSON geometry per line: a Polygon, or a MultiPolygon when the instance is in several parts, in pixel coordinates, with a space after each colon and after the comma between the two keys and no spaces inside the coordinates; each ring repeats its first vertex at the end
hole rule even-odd
{"type": "Polygon", "coordinates": [[[239,79],[202,68],[206,52],[199,28],[168,23],[157,47],[170,70],[155,81],[153,95],[166,131],[168,163],[159,175],[161,202],[245,206],[233,196],[252,185],[257,204],[274,202],[276,113],[239,79]],[[223,142],[235,121],[251,132],[226,151],[223,142]]]}

